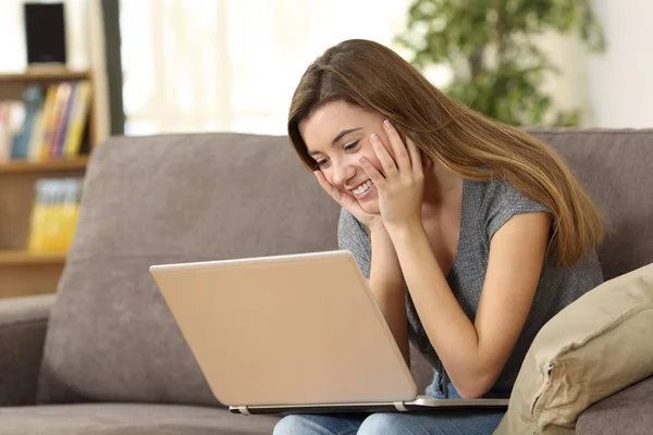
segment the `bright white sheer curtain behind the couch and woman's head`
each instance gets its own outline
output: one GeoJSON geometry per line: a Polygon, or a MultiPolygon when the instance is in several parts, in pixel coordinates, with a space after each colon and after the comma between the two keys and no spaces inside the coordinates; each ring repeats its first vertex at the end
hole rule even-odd
{"type": "Polygon", "coordinates": [[[392,46],[407,0],[122,0],[125,133],[284,134],[308,64],[349,38],[392,46]]]}

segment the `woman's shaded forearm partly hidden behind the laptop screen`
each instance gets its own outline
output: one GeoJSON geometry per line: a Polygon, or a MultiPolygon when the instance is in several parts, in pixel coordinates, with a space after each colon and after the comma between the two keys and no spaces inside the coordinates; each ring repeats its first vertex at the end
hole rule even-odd
{"type": "Polygon", "coordinates": [[[406,363],[410,365],[402,268],[385,228],[373,229],[370,238],[372,265],[369,285],[406,363]]]}

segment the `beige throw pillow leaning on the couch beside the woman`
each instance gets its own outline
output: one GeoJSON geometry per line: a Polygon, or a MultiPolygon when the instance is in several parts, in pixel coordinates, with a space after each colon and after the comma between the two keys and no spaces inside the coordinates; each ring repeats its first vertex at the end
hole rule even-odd
{"type": "Polygon", "coordinates": [[[495,434],[574,434],[592,403],[653,375],[653,263],[587,293],[542,327],[495,434]]]}

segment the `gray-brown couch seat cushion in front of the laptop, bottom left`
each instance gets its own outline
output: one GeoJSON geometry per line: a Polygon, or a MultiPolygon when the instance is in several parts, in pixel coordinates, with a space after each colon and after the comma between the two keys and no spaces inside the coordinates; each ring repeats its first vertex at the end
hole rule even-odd
{"type": "Polygon", "coordinates": [[[274,415],[174,405],[51,405],[0,408],[4,435],[256,435],[271,434],[274,415]]]}

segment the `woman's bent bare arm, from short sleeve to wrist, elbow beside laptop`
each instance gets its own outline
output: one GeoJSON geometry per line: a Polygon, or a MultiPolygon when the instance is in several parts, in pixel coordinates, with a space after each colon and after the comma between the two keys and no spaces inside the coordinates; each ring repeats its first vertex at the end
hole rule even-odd
{"type": "Polygon", "coordinates": [[[419,223],[391,232],[433,348],[463,397],[480,397],[496,382],[530,310],[551,216],[513,216],[492,238],[488,272],[472,323],[458,304],[419,223]]]}

